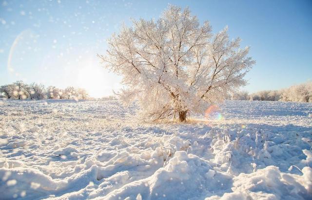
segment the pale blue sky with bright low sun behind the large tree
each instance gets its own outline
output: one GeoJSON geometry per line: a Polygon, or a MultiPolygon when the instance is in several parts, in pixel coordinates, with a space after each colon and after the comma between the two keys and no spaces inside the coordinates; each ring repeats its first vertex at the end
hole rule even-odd
{"type": "Polygon", "coordinates": [[[106,39],[131,18],[159,18],[168,3],[189,6],[213,32],[229,26],[256,65],[244,90],[312,80],[312,0],[0,0],[0,85],[23,80],[112,94],[120,77],[100,67],[106,39]]]}

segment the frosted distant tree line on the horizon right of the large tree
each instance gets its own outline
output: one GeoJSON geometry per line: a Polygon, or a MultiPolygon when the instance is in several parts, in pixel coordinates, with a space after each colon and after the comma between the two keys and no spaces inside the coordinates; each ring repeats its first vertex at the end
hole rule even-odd
{"type": "Polygon", "coordinates": [[[291,86],[287,89],[258,91],[252,94],[249,94],[248,91],[239,91],[230,95],[228,99],[254,101],[312,102],[312,82],[308,81],[300,85],[291,86]]]}

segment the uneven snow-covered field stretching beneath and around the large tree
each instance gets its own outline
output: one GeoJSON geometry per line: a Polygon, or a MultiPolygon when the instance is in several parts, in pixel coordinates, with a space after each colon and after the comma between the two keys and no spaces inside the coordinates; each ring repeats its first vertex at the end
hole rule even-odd
{"type": "Polygon", "coordinates": [[[312,104],[226,101],[190,124],[118,101],[0,101],[0,199],[312,199],[312,104]]]}

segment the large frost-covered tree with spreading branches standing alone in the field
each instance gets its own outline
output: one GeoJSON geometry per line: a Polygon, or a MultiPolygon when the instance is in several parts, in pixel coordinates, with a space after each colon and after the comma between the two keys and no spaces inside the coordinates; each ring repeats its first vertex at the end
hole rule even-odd
{"type": "Polygon", "coordinates": [[[142,113],[153,120],[203,113],[246,84],[253,66],[249,47],[229,39],[228,28],[213,35],[208,21],[202,25],[188,8],[170,5],[155,20],[133,20],[108,40],[104,66],[123,75],[126,88],[119,98],[138,100],[142,113]]]}

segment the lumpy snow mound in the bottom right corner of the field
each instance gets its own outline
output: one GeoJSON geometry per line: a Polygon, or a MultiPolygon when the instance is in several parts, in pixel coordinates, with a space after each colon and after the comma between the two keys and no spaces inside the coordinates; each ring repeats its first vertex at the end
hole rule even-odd
{"type": "Polygon", "coordinates": [[[267,166],[251,174],[241,173],[233,179],[233,192],[206,200],[311,199],[311,167],[304,167],[302,173],[302,176],[281,173],[276,166],[267,166]]]}

